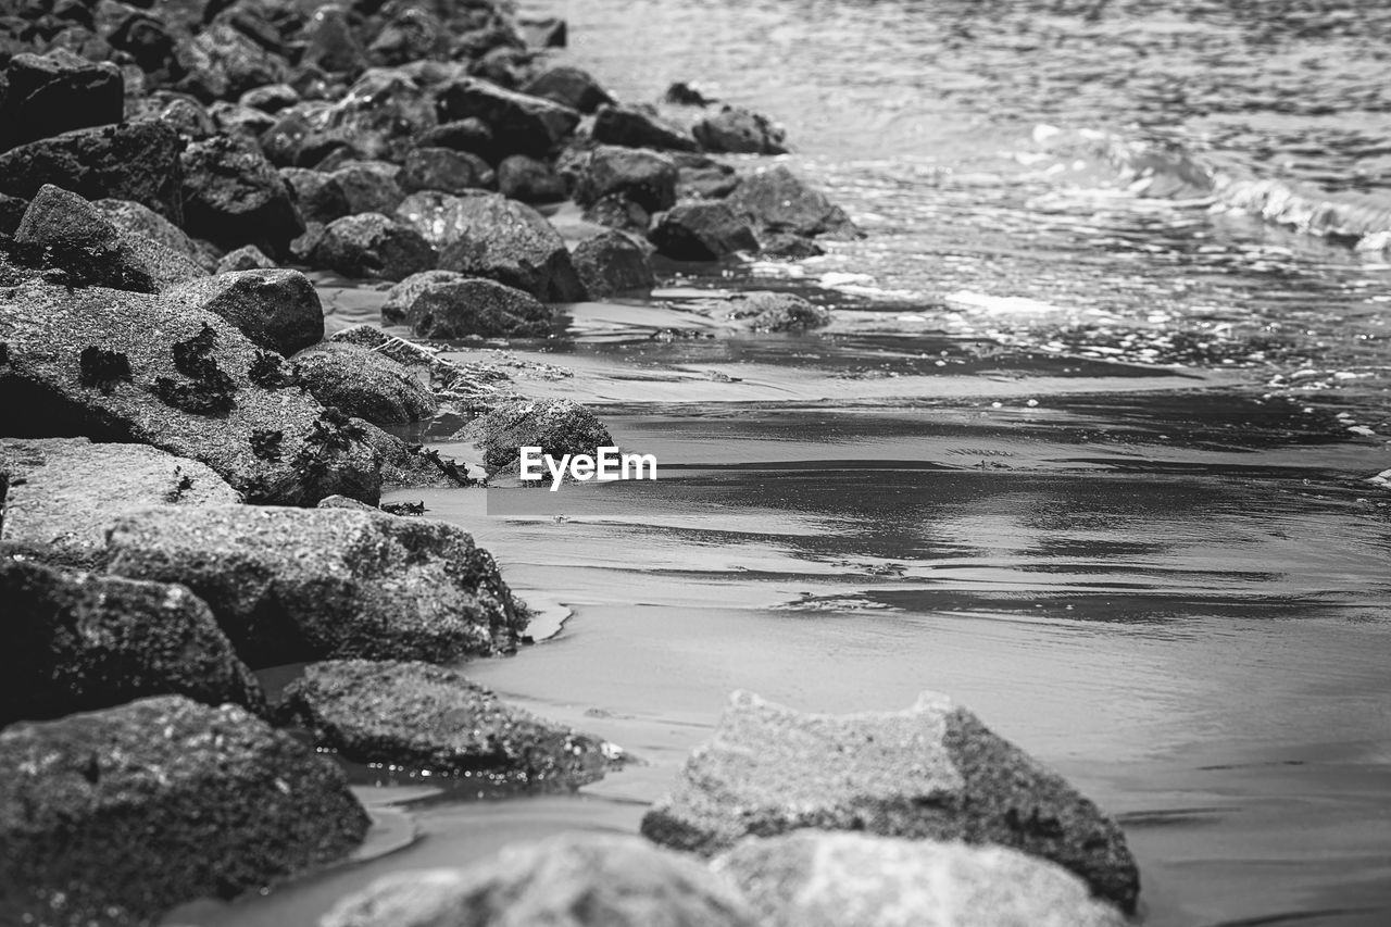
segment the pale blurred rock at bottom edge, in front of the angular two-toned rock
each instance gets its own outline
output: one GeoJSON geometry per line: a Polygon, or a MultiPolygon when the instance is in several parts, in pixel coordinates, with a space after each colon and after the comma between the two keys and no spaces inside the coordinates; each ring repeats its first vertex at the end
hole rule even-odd
{"type": "Polygon", "coordinates": [[[804,830],[744,839],[715,873],[766,927],[1124,927],[1066,869],[1003,846],[804,830]]]}

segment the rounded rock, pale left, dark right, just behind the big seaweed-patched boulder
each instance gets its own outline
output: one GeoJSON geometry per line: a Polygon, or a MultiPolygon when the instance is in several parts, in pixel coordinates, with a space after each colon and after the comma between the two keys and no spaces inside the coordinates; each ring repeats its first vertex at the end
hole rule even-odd
{"type": "Polygon", "coordinates": [[[324,306],[298,270],[238,270],[167,290],[177,312],[221,316],[263,348],[291,355],[324,340],[324,306]]]}

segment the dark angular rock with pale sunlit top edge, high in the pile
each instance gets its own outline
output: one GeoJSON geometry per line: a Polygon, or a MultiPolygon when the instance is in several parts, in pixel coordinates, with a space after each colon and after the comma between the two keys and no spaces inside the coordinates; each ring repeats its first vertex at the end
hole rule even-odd
{"type": "Polygon", "coordinates": [[[449,84],[438,100],[445,121],[473,117],[487,122],[501,154],[545,157],[580,122],[580,114],[568,106],[476,78],[449,84]]]}

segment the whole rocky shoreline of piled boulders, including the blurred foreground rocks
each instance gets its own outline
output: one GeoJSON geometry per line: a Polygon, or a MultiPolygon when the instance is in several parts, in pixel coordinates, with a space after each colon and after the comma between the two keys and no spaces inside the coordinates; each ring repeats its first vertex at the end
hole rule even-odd
{"type": "MultiPolygon", "coordinates": [[[[558,303],[858,235],[785,166],[718,159],[782,131],[683,85],[622,103],[548,61],[563,21],[485,0],[0,10],[0,921],[149,924],[345,859],[370,820],[332,754],[517,791],[622,767],[469,682],[529,608],[469,533],[378,507],[593,454],[602,422],[325,337],[306,271],[389,287],[383,326],[421,341],[544,338],[558,303]],[[420,423],[480,459],[389,430],[420,423]],[[268,704],[253,671],[296,663],[268,704]]],[[[1139,894],[1117,824],[943,696],[736,693],[641,832],[405,873],[323,923],[1111,924],[1139,894]]]]}

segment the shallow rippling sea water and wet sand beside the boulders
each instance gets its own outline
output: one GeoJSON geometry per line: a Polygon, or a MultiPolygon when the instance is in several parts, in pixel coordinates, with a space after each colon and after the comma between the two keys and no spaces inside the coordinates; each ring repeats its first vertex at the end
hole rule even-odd
{"type": "MultiPolygon", "coordinates": [[[[953,695],[1120,817],[1146,923],[1391,923],[1391,496],[1365,482],[1391,468],[1391,269],[1327,210],[1296,221],[1352,203],[1374,231],[1391,11],[552,10],[627,99],[697,79],[775,114],[868,237],[686,269],[515,345],[572,370],[522,393],[604,406],[655,483],[529,490],[547,514],[513,518],[488,514],[506,484],[395,494],[568,615],[470,675],[645,764],[413,807],[428,784],[363,778],[405,803],[374,843],[395,852],[184,921],[312,924],[381,873],[633,831],[744,688],[830,711],[953,695]],[[1263,182],[1284,210],[1232,207],[1263,182]],[[748,284],[836,322],[755,337],[693,308],[748,284]]],[[[380,295],[330,295],[334,324],[374,320],[380,295]]]]}

